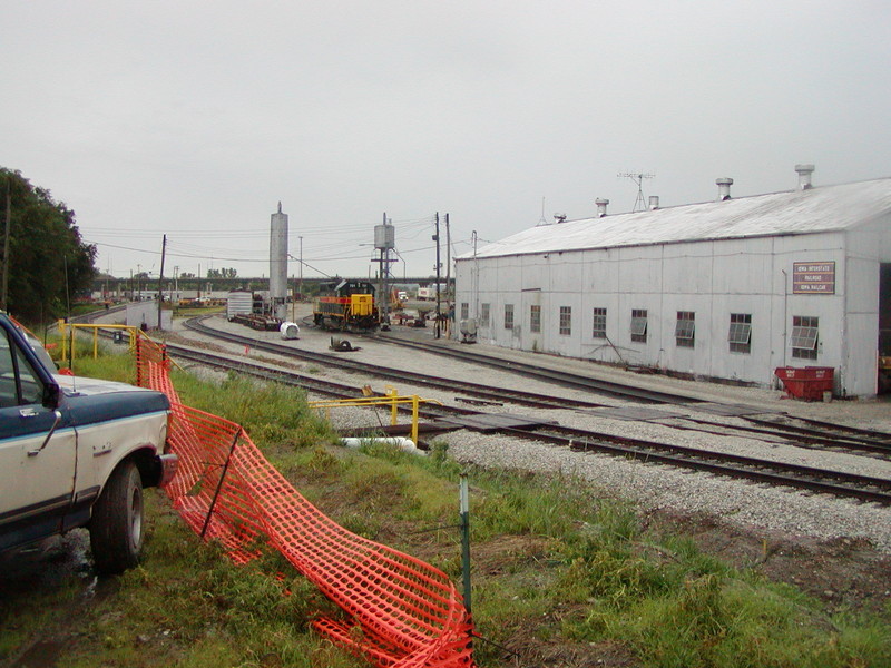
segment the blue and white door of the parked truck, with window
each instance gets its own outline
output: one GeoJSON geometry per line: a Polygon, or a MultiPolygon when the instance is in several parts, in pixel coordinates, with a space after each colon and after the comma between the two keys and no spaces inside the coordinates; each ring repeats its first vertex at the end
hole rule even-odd
{"type": "Polygon", "coordinates": [[[0,549],[59,531],[71,505],[77,448],[63,406],[43,405],[51,376],[12,327],[0,322],[0,549]]]}

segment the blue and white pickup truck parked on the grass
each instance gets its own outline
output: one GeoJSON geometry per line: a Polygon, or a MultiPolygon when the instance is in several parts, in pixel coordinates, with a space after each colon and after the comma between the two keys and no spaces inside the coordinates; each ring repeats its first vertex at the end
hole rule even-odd
{"type": "Polygon", "coordinates": [[[136,566],[143,488],[176,471],[169,412],[160,392],[60,375],[0,312],[0,552],[86,527],[97,571],[136,566]]]}

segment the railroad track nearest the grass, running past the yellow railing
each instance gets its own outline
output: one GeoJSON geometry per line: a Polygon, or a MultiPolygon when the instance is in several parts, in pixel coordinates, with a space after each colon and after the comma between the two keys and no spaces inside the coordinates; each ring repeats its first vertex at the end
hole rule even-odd
{"type": "MultiPolygon", "coordinates": [[[[167,351],[175,357],[212,365],[216,369],[237,371],[267,381],[300,386],[327,396],[355,397],[362,394],[360,387],[332,383],[290,371],[271,370],[264,365],[235,361],[206,351],[196,351],[178,345],[168,345],[167,351]]],[[[420,409],[420,414],[425,420],[435,421],[441,431],[444,429],[443,423],[449,422],[452,423],[453,429],[472,429],[472,426],[467,426],[467,422],[463,419],[473,415],[479,416],[483,413],[456,406],[423,404],[420,409]]],[[[597,452],[636,461],[705,471],[757,483],[790,487],[866,502],[891,504],[891,480],[881,478],[828,471],[654,441],[626,439],[614,434],[552,424],[529,429],[495,426],[487,431],[497,431],[513,438],[569,448],[577,452],[597,452]]]]}

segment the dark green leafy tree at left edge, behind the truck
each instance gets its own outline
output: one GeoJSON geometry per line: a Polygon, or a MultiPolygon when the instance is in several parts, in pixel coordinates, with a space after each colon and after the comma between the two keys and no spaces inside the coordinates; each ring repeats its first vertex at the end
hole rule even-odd
{"type": "MultiPolygon", "coordinates": [[[[0,217],[6,229],[10,195],[7,310],[26,322],[47,321],[67,312],[70,296],[89,289],[96,274],[96,246],[85,244],[75,212],[50,191],[0,167],[0,217]]],[[[0,250],[2,246],[0,246],[0,250]]]]}

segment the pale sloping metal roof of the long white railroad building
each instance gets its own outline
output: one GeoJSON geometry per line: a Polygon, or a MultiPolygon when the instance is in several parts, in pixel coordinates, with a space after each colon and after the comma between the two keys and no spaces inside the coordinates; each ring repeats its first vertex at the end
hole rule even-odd
{"type": "MultiPolygon", "coordinates": [[[[498,257],[841,230],[891,213],[891,178],[540,225],[477,250],[498,257]]],[[[464,253],[458,259],[473,257],[464,253]]]]}

